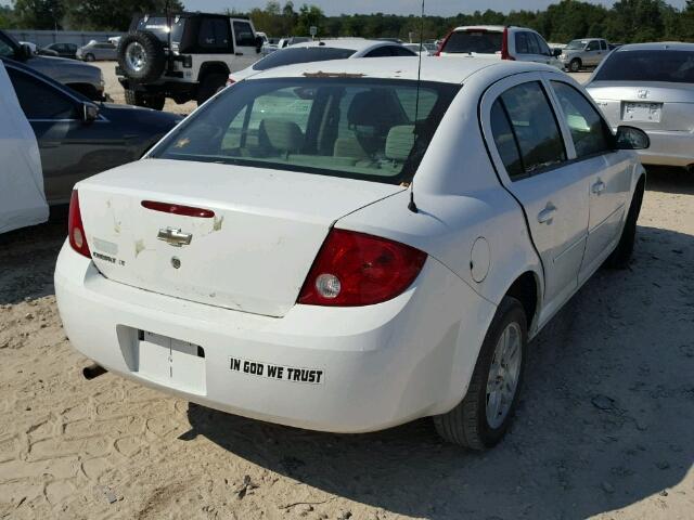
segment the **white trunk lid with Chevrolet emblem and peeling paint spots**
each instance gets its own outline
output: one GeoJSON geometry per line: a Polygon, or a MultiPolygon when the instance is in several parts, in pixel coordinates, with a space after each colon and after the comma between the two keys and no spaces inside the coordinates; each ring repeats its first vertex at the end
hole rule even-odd
{"type": "Polygon", "coordinates": [[[92,258],[105,277],[270,316],[296,302],[336,220],[403,190],[163,159],[126,165],[77,188],[92,258]],[[185,214],[168,212],[170,206],[185,214]]]}

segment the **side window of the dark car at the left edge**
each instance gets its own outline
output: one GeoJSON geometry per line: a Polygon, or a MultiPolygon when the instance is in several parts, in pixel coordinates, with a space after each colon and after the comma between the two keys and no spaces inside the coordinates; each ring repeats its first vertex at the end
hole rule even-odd
{"type": "Polygon", "coordinates": [[[8,67],[8,75],[27,119],[75,119],[75,105],[64,94],[28,74],[8,67]]]}

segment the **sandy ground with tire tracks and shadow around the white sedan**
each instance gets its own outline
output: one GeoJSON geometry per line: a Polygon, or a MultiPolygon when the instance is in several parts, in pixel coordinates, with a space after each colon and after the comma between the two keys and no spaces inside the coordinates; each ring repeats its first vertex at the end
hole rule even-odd
{"type": "Polygon", "coordinates": [[[531,343],[493,451],[422,419],[335,435],[226,415],[112,374],[61,328],[64,221],[0,236],[0,519],[692,519],[694,178],[650,172],[631,268],[531,343]]]}

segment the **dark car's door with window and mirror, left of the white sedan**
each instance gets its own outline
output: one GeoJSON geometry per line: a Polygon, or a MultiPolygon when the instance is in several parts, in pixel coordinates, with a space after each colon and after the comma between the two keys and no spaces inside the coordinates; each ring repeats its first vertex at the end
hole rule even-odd
{"type": "Polygon", "coordinates": [[[69,202],[77,181],[137,159],[127,157],[126,135],[104,117],[83,120],[81,100],[25,70],[8,67],[8,74],[39,143],[49,204],[69,202]]]}

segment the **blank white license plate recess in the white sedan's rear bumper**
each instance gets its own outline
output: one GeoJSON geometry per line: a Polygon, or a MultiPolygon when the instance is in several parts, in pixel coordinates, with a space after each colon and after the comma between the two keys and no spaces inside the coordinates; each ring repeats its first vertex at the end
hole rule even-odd
{"type": "Polygon", "coordinates": [[[141,332],[137,372],[159,385],[205,394],[205,353],[188,341],[141,332]]]}

